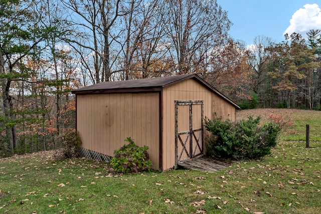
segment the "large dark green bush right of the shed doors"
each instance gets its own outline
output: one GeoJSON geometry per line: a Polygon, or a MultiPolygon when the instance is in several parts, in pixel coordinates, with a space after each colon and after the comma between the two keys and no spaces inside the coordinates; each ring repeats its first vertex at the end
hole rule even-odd
{"type": "Polygon", "coordinates": [[[260,117],[232,123],[205,118],[205,127],[212,134],[207,142],[207,154],[216,158],[240,160],[257,159],[271,153],[281,130],[275,123],[259,126],[260,117]]]}

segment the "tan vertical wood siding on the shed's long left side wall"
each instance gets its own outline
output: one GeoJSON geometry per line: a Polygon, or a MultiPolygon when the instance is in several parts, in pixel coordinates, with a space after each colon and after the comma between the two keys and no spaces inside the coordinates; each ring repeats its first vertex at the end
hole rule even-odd
{"type": "Polygon", "coordinates": [[[77,95],[77,131],[83,148],[109,156],[131,137],[159,169],[158,92],[77,95]]]}

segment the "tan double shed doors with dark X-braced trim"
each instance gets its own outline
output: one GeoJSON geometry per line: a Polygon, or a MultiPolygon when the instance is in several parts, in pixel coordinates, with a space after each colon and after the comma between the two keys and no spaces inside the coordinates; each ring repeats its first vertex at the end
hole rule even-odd
{"type": "Polygon", "coordinates": [[[203,154],[203,101],[175,101],[176,164],[203,154]]]}

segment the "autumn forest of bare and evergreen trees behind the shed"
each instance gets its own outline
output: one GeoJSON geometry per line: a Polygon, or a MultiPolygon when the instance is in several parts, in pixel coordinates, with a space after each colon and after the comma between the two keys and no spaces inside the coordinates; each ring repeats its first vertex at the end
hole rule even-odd
{"type": "Polygon", "coordinates": [[[229,36],[216,0],[0,0],[0,157],[59,148],[71,91],[197,73],[241,108],[321,110],[321,33],[229,36]],[[305,39],[306,38],[306,39],[305,39]]]}

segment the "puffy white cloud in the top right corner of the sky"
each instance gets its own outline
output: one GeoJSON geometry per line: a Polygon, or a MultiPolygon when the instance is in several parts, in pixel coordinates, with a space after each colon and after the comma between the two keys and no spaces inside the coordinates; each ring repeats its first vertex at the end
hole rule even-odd
{"type": "Polygon", "coordinates": [[[310,29],[321,30],[321,9],[317,4],[306,4],[303,8],[297,10],[292,15],[290,26],[283,34],[291,35],[295,32],[305,38],[306,32],[310,29]]]}

